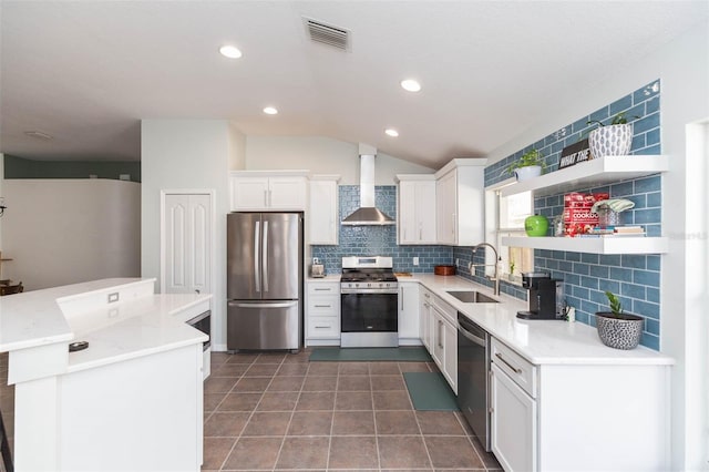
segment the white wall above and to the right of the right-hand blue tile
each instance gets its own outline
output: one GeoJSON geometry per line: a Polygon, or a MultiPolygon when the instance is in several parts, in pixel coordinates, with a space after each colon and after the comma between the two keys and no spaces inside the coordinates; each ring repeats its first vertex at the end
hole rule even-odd
{"type": "MultiPolygon", "coordinates": [[[[696,214],[707,214],[706,185],[701,173],[709,158],[701,153],[688,153],[687,130],[690,123],[709,117],[709,23],[703,22],[647,57],[637,58],[616,69],[588,90],[575,90],[567,96],[556,98],[544,116],[516,138],[505,143],[489,156],[496,162],[537,141],[579,117],[606,105],[627,93],[650,83],[661,82],[662,152],[670,156],[670,172],[662,182],[662,230],[670,237],[669,254],[662,257],[661,332],[660,348],[674,356],[672,370],[672,470],[707,470],[709,466],[709,420],[706,390],[693,390],[702,384],[707,372],[707,358],[701,352],[701,320],[707,305],[698,304],[697,287],[706,294],[709,287],[706,271],[697,271],[696,250],[707,250],[707,233],[692,239],[696,228],[688,223],[696,214]],[[682,211],[684,209],[684,211],[682,211]],[[702,275],[703,274],[703,275],[702,275]],[[688,284],[689,283],[689,284],[688,284]]],[[[706,299],[706,295],[705,295],[706,299]]],[[[628,399],[631,401],[631,399],[628,399]]]]}

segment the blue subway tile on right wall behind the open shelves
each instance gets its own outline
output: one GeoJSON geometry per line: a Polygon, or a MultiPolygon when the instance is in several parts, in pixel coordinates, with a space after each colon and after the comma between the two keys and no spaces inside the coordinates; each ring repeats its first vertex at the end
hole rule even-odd
{"type": "MultiPolygon", "coordinates": [[[[608,124],[619,112],[625,112],[629,120],[634,120],[630,154],[660,154],[660,81],[657,80],[487,166],[485,186],[508,178],[510,175],[505,174],[504,168],[532,147],[538,148],[546,156],[547,172],[556,171],[562,148],[575,143],[580,136],[587,137],[593,129],[588,121],[597,120],[608,124]]],[[[647,236],[660,236],[662,233],[662,195],[659,175],[575,191],[607,192],[612,198],[630,199],[635,203],[635,207],[620,214],[621,224],[640,225],[645,228],[647,236]]],[[[563,195],[537,197],[534,201],[535,213],[547,217],[561,215],[563,207],[563,195]]],[[[454,257],[458,257],[455,252],[454,257]]],[[[659,349],[659,255],[599,256],[536,249],[534,265],[535,269],[549,271],[553,277],[564,280],[566,301],[576,308],[577,321],[595,326],[594,312],[607,310],[605,290],[610,290],[619,296],[626,311],[646,318],[640,343],[651,349],[659,349]]],[[[511,295],[518,298],[526,296],[524,290],[512,290],[511,295]]]]}

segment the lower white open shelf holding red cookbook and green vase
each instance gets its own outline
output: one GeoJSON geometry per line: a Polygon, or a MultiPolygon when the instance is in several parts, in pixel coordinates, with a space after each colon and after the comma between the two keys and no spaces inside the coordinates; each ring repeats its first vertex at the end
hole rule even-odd
{"type": "Polygon", "coordinates": [[[589,254],[665,254],[669,249],[666,237],[503,237],[510,247],[568,250],[589,254]]]}

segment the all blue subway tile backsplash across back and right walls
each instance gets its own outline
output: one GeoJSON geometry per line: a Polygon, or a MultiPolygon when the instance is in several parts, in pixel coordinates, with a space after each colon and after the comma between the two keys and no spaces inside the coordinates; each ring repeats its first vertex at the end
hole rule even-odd
{"type": "MultiPolygon", "coordinates": [[[[579,138],[587,137],[595,127],[588,124],[588,121],[598,120],[608,124],[619,112],[626,112],[628,119],[634,120],[630,154],[660,154],[660,81],[657,80],[489,165],[485,167],[485,186],[510,178],[505,167],[533,147],[545,155],[547,172],[556,171],[562,150],[579,138]]],[[[603,187],[577,188],[576,192],[607,192],[612,198],[628,198],[635,203],[635,207],[621,213],[621,223],[641,225],[647,236],[660,236],[662,233],[659,175],[617,182],[603,187]]],[[[339,197],[341,220],[359,206],[359,186],[340,186],[339,197]]],[[[381,211],[393,217],[397,213],[397,187],[377,186],[376,202],[381,211]]],[[[534,209],[535,213],[554,217],[562,213],[563,205],[563,195],[551,195],[535,198],[534,209]]],[[[486,286],[493,285],[484,277],[483,267],[474,267],[472,274],[467,269],[470,261],[476,265],[484,264],[482,252],[473,255],[471,247],[399,246],[395,225],[340,226],[339,246],[312,246],[312,256],[320,258],[328,274],[341,271],[343,256],[364,255],[393,257],[397,271],[432,273],[436,265],[455,264],[460,276],[486,286]],[[414,257],[419,257],[418,266],[413,265],[414,257]]],[[[646,318],[640,343],[650,349],[659,349],[659,255],[620,256],[535,249],[534,265],[535,269],[547,270],[552,277],[564,280],[566,302],[576,308],[578,322],[595,326],[594,314],[608,309],[605,290],[610,290],[619,296],[626,311],[646,318]]],[[[522,287],[505,281],[501,284],[501,291],[520,299],[526,299],[527,296],[522,287]]]]}

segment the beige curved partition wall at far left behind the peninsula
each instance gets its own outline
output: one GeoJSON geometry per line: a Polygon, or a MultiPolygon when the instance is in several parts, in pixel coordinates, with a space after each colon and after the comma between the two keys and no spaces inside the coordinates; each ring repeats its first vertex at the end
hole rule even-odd
{"type": "Polygon", "coordinates": [[[8,179],[2,217],[6,278],[25,290],[140,274],[141,184],[8,179]]]}

